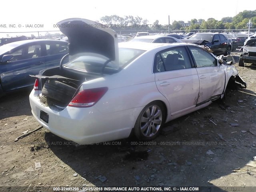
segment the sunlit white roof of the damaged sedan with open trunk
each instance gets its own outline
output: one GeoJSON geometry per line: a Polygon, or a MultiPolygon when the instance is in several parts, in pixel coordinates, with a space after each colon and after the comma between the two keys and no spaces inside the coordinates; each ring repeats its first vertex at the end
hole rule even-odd
{"type": "Polygon", "coordinates": [[[196,44],[191,44],[191,43],[146,43],[146,42],[118,43],[119,48],[139,49],[139,50],[145,50],[145,51],[152,50],[157,47],[171,48],[175,46],[187,46],[187,45],[198,46],[196,44]]]}

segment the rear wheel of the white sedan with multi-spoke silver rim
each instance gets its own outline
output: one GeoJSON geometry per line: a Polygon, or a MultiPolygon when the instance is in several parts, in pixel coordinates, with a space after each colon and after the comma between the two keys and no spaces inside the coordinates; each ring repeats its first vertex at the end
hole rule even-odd
{"type": "Polygon", "coordinates": [[[165,120],[164,106],[160,101],[146,105],[140,112],[135,126],[136,138],[143,141],[153,140],[160,134],[165,120]]]}

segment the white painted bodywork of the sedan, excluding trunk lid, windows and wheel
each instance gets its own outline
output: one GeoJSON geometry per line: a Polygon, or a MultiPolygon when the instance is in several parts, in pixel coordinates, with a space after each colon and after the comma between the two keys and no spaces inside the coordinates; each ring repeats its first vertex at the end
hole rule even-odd
{"type": "Polygon", "coordinates": [[[234,66],[221,65],[214,69],[191,68],[153,73],[155,54],[177,45],[188,44],[119,44],[119,47],[146,52],[116,74],[82,83],[82,89],[108,87],[106,94],[94,106],[67,106],[63,110],[56,110],[40,102],[41,91],[32,90],[29,97],[32,114],[42,126],[57,136],[79,144],[92,144],[127,138],[144,106],[152,101],[160,100],[166,106],[166,122],[203,108],[211,101],[199,106],[196,104],[222,94],[229,78],[238,72],[234,66]],[[204,73],[208,74],[204,79],[207,82],[203,79],[200,81],[200,75],[204,73]],[[170,84],[160,86],[165,81],[170,84]],[[198,93],[202,93],[199,98],[198,93]],[[48,114],[48,123],[40,119],[41,110],[48,114]]]}

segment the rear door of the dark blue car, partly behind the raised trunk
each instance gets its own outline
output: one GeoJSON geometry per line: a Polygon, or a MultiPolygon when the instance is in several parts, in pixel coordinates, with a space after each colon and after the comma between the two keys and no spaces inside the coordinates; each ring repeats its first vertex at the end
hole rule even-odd
{"type": "MultiPolygon", "coordinates": [[[[68,42],[49,41],[46,42],[46,68],[58,66],[64,55],[68,54],[68,42]]],[[[64,62],[63,64],[65,64],[64,62]]]]}

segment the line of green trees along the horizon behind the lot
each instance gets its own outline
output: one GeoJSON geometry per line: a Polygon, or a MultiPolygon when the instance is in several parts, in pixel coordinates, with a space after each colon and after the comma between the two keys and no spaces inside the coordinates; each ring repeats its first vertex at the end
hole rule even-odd
{"type": "MultiPolygon", "coordinates": [[[[169,25],[170,30],[214,30],[214,29],[246,29],[246,24],[252,23],[252,28],[256,28],[256,10],[244,10],[238,13],[234,17],[224,17],[220,21],[214,18],[204,19],[191,19],[189,22],[176,21],[174,20],[172,24],[169,25]]],[[[122,26],[133,25],[141,26],[140,29],[146,30],[161,30],[167,29],[166,25],[160,25],[159,21],[156,20],[151,26],[155,27],[143,27],[145,24],[149,24],[147,19],[143,19],[139,16],[124,16],[120,17],[118,15],[104,16],[100,18],[102,24],[107,24],[108,26],[113,26],[114,30],[121,30],[122,26]]],[[[139,27],[137,27],[139,28],[139,27]]]]}

